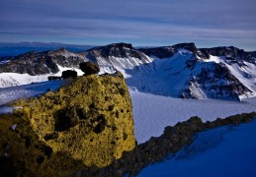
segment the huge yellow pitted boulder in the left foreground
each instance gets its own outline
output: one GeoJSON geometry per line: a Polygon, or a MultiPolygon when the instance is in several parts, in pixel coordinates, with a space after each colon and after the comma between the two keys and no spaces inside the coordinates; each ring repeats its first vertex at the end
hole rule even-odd
{"type": "Polygon", "coordinates": [[[0,115],[0,156],[11,161],[9,174],[63,176],[107,166],[135,147],[131,101],[120,74],[80,77],[15,105],[23,108],[0,115]]]}

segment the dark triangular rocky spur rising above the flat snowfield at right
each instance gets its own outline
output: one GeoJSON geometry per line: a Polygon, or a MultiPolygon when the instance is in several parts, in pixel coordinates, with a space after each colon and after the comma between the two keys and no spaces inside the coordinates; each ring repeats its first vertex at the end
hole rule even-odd
{"type": "Polygon", "coordinates": [[[223,63],[213,63],[213,67],[202,68],[201,72],[187,83],[188,89],[181,90],[180,97],[202,98],[195,94],[195,88],[201,90],[205,97],[214,99],[240,100],[239,96],[252,93],[235,78],[223,63]]]}

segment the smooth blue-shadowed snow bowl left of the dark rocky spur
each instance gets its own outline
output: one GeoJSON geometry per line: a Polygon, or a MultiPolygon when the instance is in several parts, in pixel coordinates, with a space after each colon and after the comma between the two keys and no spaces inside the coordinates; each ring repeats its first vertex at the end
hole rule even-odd
{"type": "Polygon", "coordinates": [[[125,70],[131,76],[127,79],[128,86],[143,92],[179,97],[180,90],[185,89],[190,75],[198,73],[191,73],[186,69],[186,61],[192,56],[192,52],[180,49],[170,58],[152,57],[151,63],[134,70],[125,70]]]}

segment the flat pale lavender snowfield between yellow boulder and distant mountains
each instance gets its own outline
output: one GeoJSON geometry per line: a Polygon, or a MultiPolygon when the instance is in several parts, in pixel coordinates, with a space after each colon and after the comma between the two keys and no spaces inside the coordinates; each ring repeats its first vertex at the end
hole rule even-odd
{"type": "Polygon", "coordinates": [[[256,111],[256,98],[241,102],[216,99],[181,99],[130,91],[135,138],[138,144],[159,137],[166,126],[174,126],[192,116],[206,121],[234,114],[256,111]]]}

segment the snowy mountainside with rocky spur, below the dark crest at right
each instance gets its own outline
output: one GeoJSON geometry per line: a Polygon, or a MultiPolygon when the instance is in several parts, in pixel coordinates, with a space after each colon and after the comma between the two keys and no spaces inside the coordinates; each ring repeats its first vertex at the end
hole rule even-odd
{"type": "Polygon", "coordinates": [[[125,70],[130,76],[127,78],[129,87],[172,97],[235,100],[256,95],[256,65],[252,63],[243,62],[244,66],[239,66],[217,56],[202,59],[185,49],[179,49],[170,58],[152,59],[151,63],[125,70]],[[216,73],[219,69],[222,74],[216,73]],[[240,89],[243,86],[247,90],[240,89]]]}

